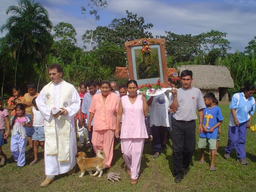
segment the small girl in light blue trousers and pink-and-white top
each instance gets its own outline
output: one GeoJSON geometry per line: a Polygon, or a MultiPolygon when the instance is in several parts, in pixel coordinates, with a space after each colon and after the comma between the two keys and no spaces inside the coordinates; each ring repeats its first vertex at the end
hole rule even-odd
{"type": "Polygon", "coordinates": [[[25,127],[32,127],[32,123],[25,117],[25,107],[18,103],[15,107],[16,115],[13,118],[11,126],[11,152],[14,160],[17,161],[17,167],[25,165],[25,148],[27,146],[27,135],[25,127]]]}

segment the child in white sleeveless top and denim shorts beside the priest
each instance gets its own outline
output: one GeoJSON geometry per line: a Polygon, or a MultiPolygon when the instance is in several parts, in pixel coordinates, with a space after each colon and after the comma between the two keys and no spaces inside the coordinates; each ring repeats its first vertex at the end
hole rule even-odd
{"type": "Polygon", "coordinates": [[[30,165],[34,165],[38,161],[38,146],[40,145],[42,148],[44,148],[44,141],[45,141],[45,135],[44,135],[44,116],[40,113],[37,103],[35,102],[35,99],[37,97],[34,97],[32,100],[32,104],[34,107],[31,110],[31,121],[34,126],[34,133],[31,136],[31,140],[33,141],[33,147],[34,147],[34,160],[30,163],[30,165]]]}

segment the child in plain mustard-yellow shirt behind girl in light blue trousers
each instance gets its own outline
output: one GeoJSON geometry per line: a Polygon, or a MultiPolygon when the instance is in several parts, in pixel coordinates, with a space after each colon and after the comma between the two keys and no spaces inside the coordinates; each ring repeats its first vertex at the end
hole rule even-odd
{"type": "MultiPolygon", "coordinates": [[[[25,106],[25,114],[31,121],[31,110],[33,108],[32,100],[34,97],[37,97],[39,93],[35,91],[35,83],[29,82],[27,85],[28,93],[26,93],[23,97],[22,103],[25,106]]],[[[28,151],[33,151],[33,141],[31,140],[31,136],[34,134],[34,127],[26,127],[26,133],[28,138],[28,143],[30,145],[30,149],[28,151]]]]}

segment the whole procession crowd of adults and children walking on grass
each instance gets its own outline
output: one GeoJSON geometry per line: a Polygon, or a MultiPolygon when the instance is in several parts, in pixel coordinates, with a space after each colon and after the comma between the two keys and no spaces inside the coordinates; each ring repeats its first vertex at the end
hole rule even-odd
{"type": "MultiPolygon", "coordinates": [[[[90,147],[92,155],[98,150],[106,154],[105,168],[111,167],[114,139],[120,138],[121,151],[126,163],[126,173],[131,184],[137,184],[144,143],[152,139],[153,158],[159,157],[170,138],[173,148],[174,182],[181,182],[190,170],[190,162],[196,147],[196,119],[199,119],[197,147],[201,151],[199,163],[204,163],[204,151],[209,144],[211,164],[215,171],[215,155],[218,155],[219,135],[223,116],[214,93],[202,96],[193,87],[192,71],[181,72],[181,88],[168,79],[171,92],[161,95],[138,95],[135,80],[120,85],[115,82],[95,80],[81,82],[80,92],[62,79],[63,68],[58,64],[48,66],[51,82],[37,93],[34,83],[28,83],[28,93],[20,96],[18,87],[3,109],[0,97],[0,165],[7,156],[2,147],[11,133],[10,149],[17,168],[25,165],[27,142],[38,162],[38,147],[44,148],[45,180],[40,186],[48,186],[55,175],[75,172],[77,147],[90,147]],[[87,91],[88,90],[88,91],[87,91]],[[196,111],[198,110],[198,117],[196,111]],[[76,142],[78,134],[80,145],[76,142]]],[[[255,86],[246,85],[241,93],[233,95],[229,109],[228,144],[225,158],[236,148],[237,161],[245,160],[246,128],[251,126],[255,111],[255,86]]],[[[119,140],[118,140],[119,141],[119,140]]]]}

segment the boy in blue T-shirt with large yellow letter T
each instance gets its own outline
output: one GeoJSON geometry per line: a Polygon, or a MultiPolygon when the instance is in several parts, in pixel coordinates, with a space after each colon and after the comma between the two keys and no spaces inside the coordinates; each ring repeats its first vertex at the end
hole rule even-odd
{"type": "Polygon", "coordinates": [[[211,166],[210,171],[215,171],[214,166],[215,160],[215,149],[216,149],[216,138],[218,134],[218,127],[223,121],[221,114],[221,108],[214,104],[215,95],[214,93],[206,93],[204,95],[204,103],[206,108],[204,109],[204,120],[202,123],[204,131],[199,134],[199,140],[197,147],[201,151],[200,163],[204,163],[204,150],[207,143],[209,143],[209,148],[211,150],[211,166]]]}

